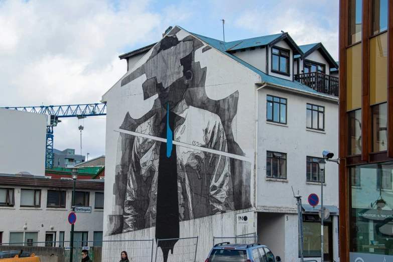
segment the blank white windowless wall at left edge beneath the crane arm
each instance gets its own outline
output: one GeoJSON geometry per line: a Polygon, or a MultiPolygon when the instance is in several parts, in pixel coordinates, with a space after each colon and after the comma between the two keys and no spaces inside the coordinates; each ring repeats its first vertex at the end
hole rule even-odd
{"type": "Polygon", "coordinates": [[[45,175],[46,115],[0,108],[0,173],[45,175]]]}

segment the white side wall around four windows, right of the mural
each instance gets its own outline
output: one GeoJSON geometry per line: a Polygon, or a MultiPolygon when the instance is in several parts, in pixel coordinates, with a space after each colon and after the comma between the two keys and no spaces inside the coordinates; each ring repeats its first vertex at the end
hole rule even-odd
{"type": "MultiPolygon", "coordinates": [[[[306,157],[322,157],[327,150],[338,155],[338,103],[285,91],[262,88],[258,91],[258,171],[257,206],[295,208],[294,191],[300,191],[303,203],[311,193],[320,196],[320,184],[306,182],[306,157]],[[287,124],[266,120],[266,96],[287,98],[287,124]],[[306,128],[306,104],[325,106],[325,132],[306,128]],[[272,181],[266,177],[266,151],[287,154],[287,179],[272,181]]],[[[326,163],[324,204],[338,207],[338,165],[326,163]]],[[[295,192],[295,193],[296,193],[295,192]]]]}

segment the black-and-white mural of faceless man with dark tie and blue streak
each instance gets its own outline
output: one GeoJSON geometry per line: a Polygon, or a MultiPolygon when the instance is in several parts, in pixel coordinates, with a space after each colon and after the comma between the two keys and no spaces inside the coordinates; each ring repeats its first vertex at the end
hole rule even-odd
{"type": "MultiPolygon", "coordinates": [[[[149,112],[138,119],[128,112],[119,127],[113,194],[122,215],[109,215],[109,234],[155,226],[156,239],[178,238],[180,221],[251,206],[251,166],[234,139],[239,92],[207,96],[209,69],[195,62],[195,52],[210,47],[191,35],[179,40],[179,31],[121,80],[120,88],[132,88],[146,75],[144,99],[158,97],[149,112]]],[[[161,247],[165,260],[175,243],[161,247]]]]}

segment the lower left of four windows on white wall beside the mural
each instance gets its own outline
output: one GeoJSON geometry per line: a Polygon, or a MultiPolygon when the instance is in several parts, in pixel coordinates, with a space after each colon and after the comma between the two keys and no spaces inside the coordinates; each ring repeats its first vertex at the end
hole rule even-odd
{"type": "Polygon", "coordinates": [[[287,154],[270,151],[266,153],[266,176],[287,179],[287,154]]]}

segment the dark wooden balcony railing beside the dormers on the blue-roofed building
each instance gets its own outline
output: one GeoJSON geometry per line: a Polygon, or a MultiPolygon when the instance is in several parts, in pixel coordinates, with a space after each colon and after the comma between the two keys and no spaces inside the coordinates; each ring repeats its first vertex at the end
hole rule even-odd
{"type": "Polygon", "coordinates": [[[338,77],[312,72],[295,75],[295,80],[320,93],[338,96],[338,77]]]}

